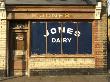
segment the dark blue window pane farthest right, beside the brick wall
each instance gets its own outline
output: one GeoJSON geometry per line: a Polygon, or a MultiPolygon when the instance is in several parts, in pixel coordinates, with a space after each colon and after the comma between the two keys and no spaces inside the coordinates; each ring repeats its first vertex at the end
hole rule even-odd
{"type": "Polygon", "coordinates": [[[92,23],[80,22],[78,30],[81,32],[78,38],[78,52],[79,54],[92,53],[92,23]]]}

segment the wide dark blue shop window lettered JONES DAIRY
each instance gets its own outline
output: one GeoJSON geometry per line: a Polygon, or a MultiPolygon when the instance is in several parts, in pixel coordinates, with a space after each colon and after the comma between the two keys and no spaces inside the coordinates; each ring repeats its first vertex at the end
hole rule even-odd
{"type": "Polygon", "coordinates": [[[31,54],[91,54],[91,22],[32,22],[31,54]]]}

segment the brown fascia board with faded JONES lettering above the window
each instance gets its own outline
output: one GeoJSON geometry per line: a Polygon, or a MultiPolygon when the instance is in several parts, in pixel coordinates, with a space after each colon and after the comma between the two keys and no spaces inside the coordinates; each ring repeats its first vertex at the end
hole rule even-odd
{"type": "MultiPolygon", "coordinates": [[[[42,9],[41,9],[42,10],[42,9]]],[[[89,9],[90,10],[90,9],[89,9]]],[[[95,13],[8,13],[7,19],[94,19],[95,13]]]]}

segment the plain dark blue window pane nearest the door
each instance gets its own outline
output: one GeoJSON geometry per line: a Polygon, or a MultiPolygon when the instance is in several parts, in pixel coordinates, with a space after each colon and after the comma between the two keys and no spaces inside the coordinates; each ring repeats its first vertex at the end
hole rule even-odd
{"type": "Polygon", "coordinates": [[[45,54],[46,53],[46,33],[45,22],[32,22],[31,32],[31,53],[32,54],[45,54]]]}

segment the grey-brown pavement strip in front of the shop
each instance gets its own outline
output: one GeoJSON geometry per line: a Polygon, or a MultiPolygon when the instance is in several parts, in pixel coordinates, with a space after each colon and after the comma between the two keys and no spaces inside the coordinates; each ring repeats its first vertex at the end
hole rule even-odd
{"type": "Polygon", "coordinates": [[[110,82],[108,75],[67,75],[67,76],[21,76],[10,77],[0,82],[110,82]]]}

